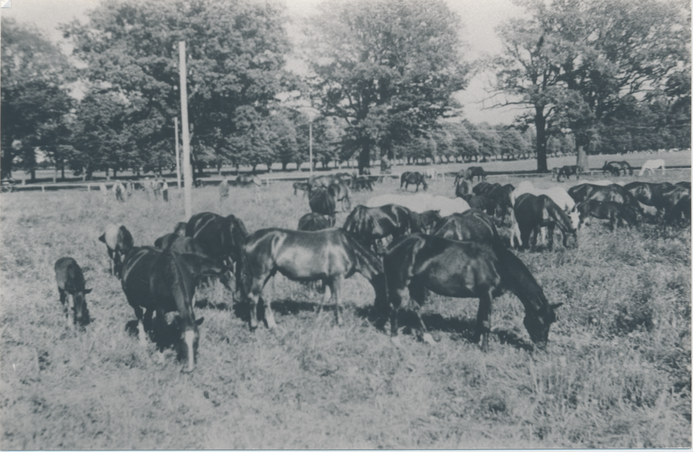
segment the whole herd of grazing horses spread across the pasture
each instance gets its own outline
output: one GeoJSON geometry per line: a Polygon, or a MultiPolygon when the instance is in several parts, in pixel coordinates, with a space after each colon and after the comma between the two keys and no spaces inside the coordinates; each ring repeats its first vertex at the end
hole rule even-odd
{"type": "MultiPolygon", "coordinates": [[[[640,172],[655,168],[664,173],[664,162],[649,161],[640,172]]],[[[626,162],[606,162],[603,169],[612,175],[633,171],[626,162]]],[[[582,173],[579,166],[564,166],[555,172],[556,181],[571,175],[579,179],[582,173]]],[[[423,185],[426,191],[427,177],[436,175],[403,173],[400,191],[407,191],[410,184],[416,185],[416,191],[423,185]]],[[[141,343],[146,344],[149,336],[163,349],[164,337],[175,331],[179,359],[190,372],[195,368],[198,327],[203,320],[195,317],[195,288],[204,279],[217,279],[229,292],[240,295],[249,306],[251,330],[262,317],[268,328],[276,326],[270,302],[262,293],[277,272],[295,281],[322,281],[330,295],[325,291],[318,313],[323,304],[333,302],[338,325],[343,324],[343,281],[359,272],[374,288],[376,326],[384,329],[389,320],[393,339],[398,315],[406,310],[414,313],[419,336],[432,342],[417,311],[429,291],[478,298],[473,339],[482,341],[484,351],[489,347],[493,298],[508,291],[523,303],[525,328],[534,344],[543,348],[561,304],[547,301],[529,269],[509,248],[527,249],[541,236],[552,250],[555,229],[561,233],[563,247],[577,247],[577,230],[590,218],[608,220],[614,229],[643,221],[678,225],[691,216],[690,182],[621,186],[605,180],[566,191],[561,186],[536,189],[529,181],[515,187],[485,179],[482,168],[471,166],[455,176],[455,198],[389,193],[351,209],[351,192],[372,190],[371,179],[347,173],[323,175],[293,184],[295,194],[301,190],[308,196],[311,211],[301,216],[297,230],[267,228],[249,233],[234,215],[203,212],[187,223],[177,223],[153,247],[136,247],[124,225],[108,225],[98,239],[105,243],[110,271],[120,279],[134,310],[141,343]],[[338,206],[349,211],[342,227],[335,227],[338,206]],[[643,206],[656,214],[647,214],[643,206]],[[500,234],[499,228],[507,228],[507,233],[500,234]],[[232,276],[235,289],[230,284],[232,276]],[[415,304],[405,302],[407,293],[415,304]],[[170,312],[177,313],[173,325],[166,322],[170,312]]],[[[236,180],[238,186],[251,184],[259,185],[259,180],[245,176],[236,180]]],[[[123,186],[121,195],[127,190],[123,186]]],[[[228,198],[227,180],[219,194],[221,200],[228,198]]],[[[67,318],[84,327],[89,323],[85,295],[91,289],[85,288],[82,270],[74,259],[63,257],[55,263],[55,275],[67,318]]]]}

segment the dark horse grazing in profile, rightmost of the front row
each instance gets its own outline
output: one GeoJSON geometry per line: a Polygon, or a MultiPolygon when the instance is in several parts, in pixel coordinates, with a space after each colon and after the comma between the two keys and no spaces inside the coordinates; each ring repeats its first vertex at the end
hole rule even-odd
{"type": "MultiPolygon", "coordinates": [[[[489,349],[491,305],[493,297],[505,290],[514,293],[525,306],[524,324],[529,337],[543,349],[549,329],[556,321],[554,310],[561,306],[549,304],[525,264],[513,252],[498,245],[453,241],[446,238],[414,234],[392,247],[383,261],[387,281],[387,303],[376,310],[389,313],[390,333],[397,335],[397,316],[400,309],[412,309],[403,303],[405,290],[419,306],[426,298],[426,289],[446,297],[478,298],[479,310],[473,340],[483,336],[482,350],[489,349]]],[[[413,309],[426,342],[432,338],[426,332],[421,316],[413,309]]]]}

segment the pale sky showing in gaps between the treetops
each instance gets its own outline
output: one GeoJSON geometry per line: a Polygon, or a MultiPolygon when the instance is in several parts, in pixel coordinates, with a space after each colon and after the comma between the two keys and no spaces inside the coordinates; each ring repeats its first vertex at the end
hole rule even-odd
{"type": "MultiPolygon", "coordinates": [[[[62,37],[58,25],[80,19],[85,21],[85,13],[98,6],[101,0],[0,0],[0,16],[13,17],[19,22],[32,23],[53,42],[62,37]],[[9,3],[10,8],[7,8],[9,3]]],[[[146,0],[142,0],[146,1],[146,0]]],[[[426,1],[426,0],[421,0],[426,1]]],[[[308,17],[316,12],[322,0],[286,0],[288,12],[295,19],[308,17]]],[[[495,27],[503,21],[517,17],[522,10],[511,0],[446,0],[448,7],[462,19],[459,31],[462,40],[468,44],[466,55],[469,59],[483,55],[493,55],[502,49],[495,35],[495,27]]],[[[464,115],[473,123],[486,121],[491,124],[510,123],[519,110],[484,108],[491,105],[485,101],[489,94],[489,74],[477,74],[464,92],[456,95],[464,105],[464,115]]]]}

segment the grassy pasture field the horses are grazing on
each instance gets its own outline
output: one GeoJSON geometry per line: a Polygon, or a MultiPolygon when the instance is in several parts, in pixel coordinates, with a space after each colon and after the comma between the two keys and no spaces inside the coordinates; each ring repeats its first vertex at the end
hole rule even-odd
{"type": "MultiPolygon", "coordinates": [[[[640,180],[690,180],[690,171],[640,180]]],[[[451,185],[433,182],[429,192],[452,196],[451,185]]],[[[353,205],[398,186],[376,184],[353,205]]],[[[196,189],[193,213],[233,213],[254,231],[293,229],[310,211],[290,182],[259,193],[258,204],[253,189],[231,188],[220,206],[216,188],[196,189]]],[[[519,252],[549,301],[564,303],[545,352],[532,351],[511,294],[495,299],[484,354],[470,342],[476,299],[431,295],[421,312],[437,344],[405,331],[396,347],[374,327],[374,293],[360,275],[344,287],[344,327],[330,308],[316,318],[320,295],[278,276],[265,288],[276,331],[251,333],[244,304],[220,286],[204,289],[214,306],[196,309],[204,317],[198,366],[184,374],[173,350],[140,347],[126,331],[134,313],[97,240],[108,223],[123,223],[136,245],[152,244],[184,220],[182,196],[173,190],[172,198],[2,196],[2,449],[691,446],[690,227],[612,233],[593,221],[577,249],[556,241],[554,252],[519,252]],[[85,331],[62,318],[53,264],[63,256],[80,263],[94,289],[85,331]]]]}

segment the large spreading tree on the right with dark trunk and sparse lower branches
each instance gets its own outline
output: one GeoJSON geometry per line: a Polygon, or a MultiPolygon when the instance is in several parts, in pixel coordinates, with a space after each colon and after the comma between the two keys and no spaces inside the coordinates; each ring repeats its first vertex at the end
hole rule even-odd
{"type": "Polygon", "coordinates": [[[647,101],[685,69],[690,24],[685,8],[658,0],[523,1],[528,19],[498,28],[500,92],[532,107],[539,171],[546,141],[570,130],[586,147],[622,103],[647,101]],[[682,35],[685,33],[685,35],[682,35]]]}

